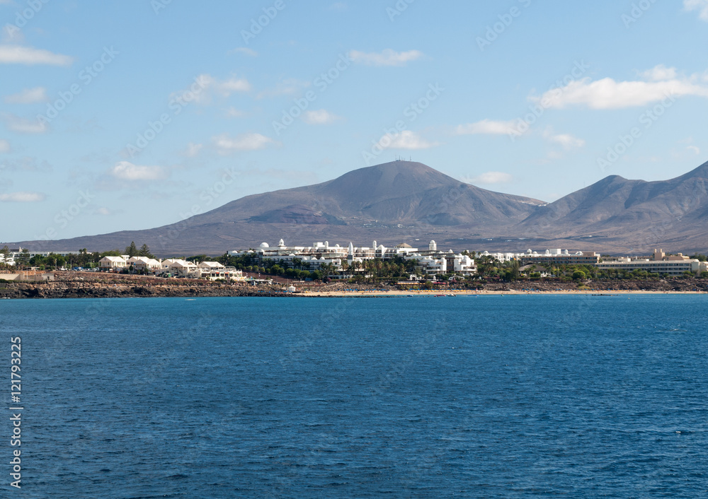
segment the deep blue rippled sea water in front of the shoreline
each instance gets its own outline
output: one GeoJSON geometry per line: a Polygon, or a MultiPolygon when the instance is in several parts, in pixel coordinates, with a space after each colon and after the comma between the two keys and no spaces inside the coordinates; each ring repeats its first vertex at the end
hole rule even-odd
{"type": "Polygon", "coordinates": [[[707,304],[0,300],[0,495],[706,497],[707,304]]]}

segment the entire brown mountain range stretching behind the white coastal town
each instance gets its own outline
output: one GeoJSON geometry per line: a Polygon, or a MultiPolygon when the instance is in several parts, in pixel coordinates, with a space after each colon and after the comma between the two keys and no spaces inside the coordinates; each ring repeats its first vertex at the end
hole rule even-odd
{"type": "Polygon", "coordinates": [[[708,163],[663,182],[607,177],[551,204],[480,189],[422,163],[395,161],[334,180],[255,194],[172,225],[51,242],[45,251],[108,250],[135,241],[159,255],[221,254],[281,237],[289,245],[435,239],[455,250],[563,247],[601,252],[708,247],[708,163]]]}

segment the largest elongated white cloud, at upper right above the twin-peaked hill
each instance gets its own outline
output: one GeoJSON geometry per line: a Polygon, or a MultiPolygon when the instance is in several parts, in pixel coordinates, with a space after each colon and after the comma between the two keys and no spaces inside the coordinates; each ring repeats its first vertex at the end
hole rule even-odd
{"type": "Polygon", "coordinates": [[[643,76],[651,81],[615,81],[612,78],[591,81],[590,78],[583,78],[564,88],[549,90],[540,98],[532,97],[531,100],[540,102],[543,107],[586,105],[590,109],[622,109],[645,106],[669,96],[708,97],[708,87],[695,83],[700,79],[698,76],[677,78],[675,69],[662,65],[646,71],[643,76]],[[656,81],[655,78],[661,79],[656,81]]]}

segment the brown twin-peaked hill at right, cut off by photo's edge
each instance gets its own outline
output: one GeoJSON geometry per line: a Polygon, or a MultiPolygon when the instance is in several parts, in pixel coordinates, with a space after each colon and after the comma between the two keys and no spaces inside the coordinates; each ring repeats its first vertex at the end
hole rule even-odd
{"type": "Polygon", "coordinates": [[[708,163],[661,182],[606,177],[539,207],[513,233],[567,239],[598,238],[629,250],[708,247],[708,163]]]}

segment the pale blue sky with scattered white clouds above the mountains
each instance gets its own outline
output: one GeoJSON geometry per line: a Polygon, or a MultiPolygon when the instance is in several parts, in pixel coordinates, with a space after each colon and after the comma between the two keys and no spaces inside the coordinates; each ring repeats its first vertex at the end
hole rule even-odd
{"type": "Polygon", "coordinates": [[[708,0],[0,0],[0,23],[2,241],[399,156],[544,201],[708,156],[708,0]]]}

